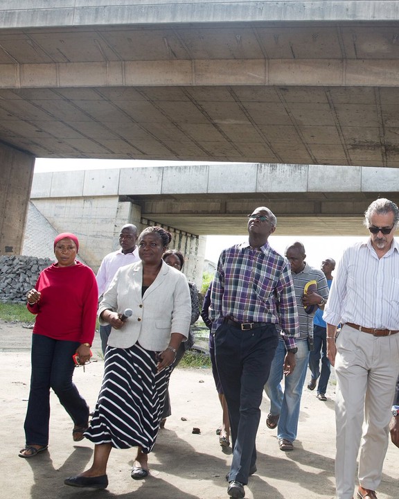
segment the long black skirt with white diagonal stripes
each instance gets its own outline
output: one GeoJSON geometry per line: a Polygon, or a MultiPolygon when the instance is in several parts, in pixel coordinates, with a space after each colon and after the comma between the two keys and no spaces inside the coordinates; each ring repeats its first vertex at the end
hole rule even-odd
{"type": "Polygon", "coordinates": [[[103,385],[85,437],[115,448],[140,446],[149,453],[157,439],[170,367],[157,373],[156,352],[134,344],[107,347],[103,385]]]}

